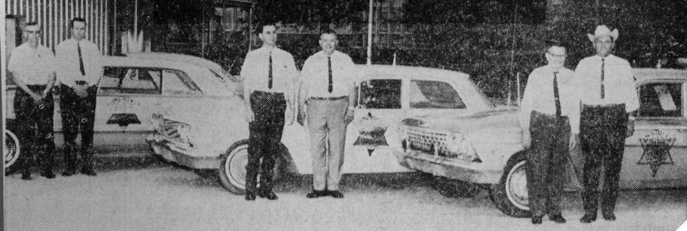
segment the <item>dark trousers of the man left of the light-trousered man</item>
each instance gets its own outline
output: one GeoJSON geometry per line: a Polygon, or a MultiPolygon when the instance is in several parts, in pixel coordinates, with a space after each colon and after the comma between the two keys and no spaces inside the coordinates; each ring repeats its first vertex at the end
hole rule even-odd
{"type": "Polygon", "coordinates": [[[250,98],[254,121],[249,123],[246,193],[256,193],[258,172],[260,191],[272,191],[274,158],[280,152],[286,99],[283,93],[254,91],[250,98]],[[261,162],[262,159],[262,162],[261,162]]]}

